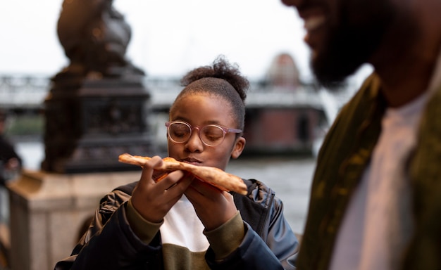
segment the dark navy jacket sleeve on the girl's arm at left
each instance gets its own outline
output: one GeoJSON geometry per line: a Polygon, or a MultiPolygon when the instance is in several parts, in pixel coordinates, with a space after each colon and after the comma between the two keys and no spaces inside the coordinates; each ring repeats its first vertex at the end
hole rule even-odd
{"type": "Polygon", "coordinates": [[[149,245],[143,243],[128,224],[127,202],[118,202],[113,195],[101,200],[88,231],[70,257],[56,264],[56,270],[144,269],[147,263],[162,261],[159,233],[149,245]]]}

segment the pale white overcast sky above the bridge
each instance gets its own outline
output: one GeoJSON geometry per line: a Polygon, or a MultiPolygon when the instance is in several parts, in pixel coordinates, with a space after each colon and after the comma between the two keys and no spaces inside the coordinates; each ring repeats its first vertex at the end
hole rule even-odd
{"type": "MultiPolygon", "coordinates": [[[[55,75],[68,59],[56,35],[63,0],[0,1],[0,75],[55,75]]],[[[311,79],[302,20],[280,0],[114,0],[132,27],[127,58],[147,75],[182,76],[219,54],[260,78],[290,53],[311,79]]]]}

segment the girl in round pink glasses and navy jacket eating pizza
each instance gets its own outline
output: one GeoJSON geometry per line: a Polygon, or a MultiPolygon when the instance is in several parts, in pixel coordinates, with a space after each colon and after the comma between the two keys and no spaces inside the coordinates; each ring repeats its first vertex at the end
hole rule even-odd
{"type": "MultiPolygon", "coordinates": [[[[245,146],[249,83],[223,58],[182,83],[166,122],[168,155],[225,170],[245,146]]],[[[162,162],[152,158],[139,181],[106,195],[55,269],[294,269],[299,243],[271,188],[251,179],[247,195],[228,193],[182,171],[155,182],[162,162]]]]}

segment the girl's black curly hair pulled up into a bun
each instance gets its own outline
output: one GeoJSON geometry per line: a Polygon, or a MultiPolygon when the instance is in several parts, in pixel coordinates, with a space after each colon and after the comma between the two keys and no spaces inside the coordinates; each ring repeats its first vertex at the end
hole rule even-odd
{"type": "Polygon", "coordinates": [[[231,104],[232,112],[239,129],[244,129],[245,98],[249,81],[242,76],[237,64],[230,64],[224,56],[218,56],[213,65],[201,66],[190,70],[181,79],[184,89],[180,92],[170,108],[173,110],[176,101],[187,94],[207,93],[223,98],[231,104]]]}

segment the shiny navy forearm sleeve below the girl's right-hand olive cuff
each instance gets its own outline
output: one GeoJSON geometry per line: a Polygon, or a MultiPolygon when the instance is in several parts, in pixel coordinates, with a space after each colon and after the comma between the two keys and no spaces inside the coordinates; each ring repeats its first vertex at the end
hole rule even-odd
{"type": "Polygon", "coordinates": [[[267,270],[283,269],[282,264],[273,251],[268,248],[262,238],[251,227],[244,222],[245,236],[239,248],[232,252],[228,257],[221,261],[215,260],[214,252],[211,248],[206,252],[206,262],[210,269],[221,270],[267,270]]]}

